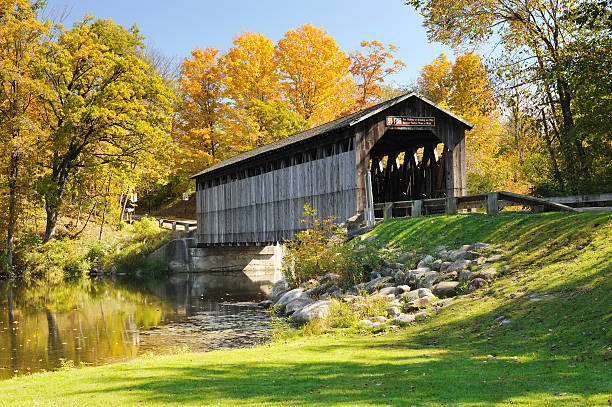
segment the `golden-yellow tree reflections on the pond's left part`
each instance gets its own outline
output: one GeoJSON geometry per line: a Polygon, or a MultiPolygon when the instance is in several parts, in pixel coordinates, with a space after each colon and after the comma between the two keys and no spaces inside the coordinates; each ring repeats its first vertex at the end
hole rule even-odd
{"type": "Polygon", "coordinates": [[[113,283],[0,281],[0,378],[134,356],[139,328],[171,311],[158,297],[113,283]],[[45,323],[46,322],[46,323],[45,323]]]}

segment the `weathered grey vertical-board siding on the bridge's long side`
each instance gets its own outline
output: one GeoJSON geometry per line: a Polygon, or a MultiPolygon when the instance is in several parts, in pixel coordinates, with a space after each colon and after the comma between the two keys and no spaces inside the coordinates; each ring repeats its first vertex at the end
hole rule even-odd
{"type": "Polygon", "coordinates": [[[202,244],[280,242],[305,229],[308,203],[344,221],[357,210],[355,152],[349,150],[197,191],[202,244]]]}

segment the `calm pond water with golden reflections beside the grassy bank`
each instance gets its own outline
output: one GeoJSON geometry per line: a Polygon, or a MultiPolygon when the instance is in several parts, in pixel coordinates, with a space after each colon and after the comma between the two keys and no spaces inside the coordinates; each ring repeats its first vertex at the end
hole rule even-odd
{"type": "Polygon", "coordinates": [[[268,335],[257,294],[209,292],[197,275],[146,285],[0,281],[0,379],[153,352],[251,346],[268,335]]]}

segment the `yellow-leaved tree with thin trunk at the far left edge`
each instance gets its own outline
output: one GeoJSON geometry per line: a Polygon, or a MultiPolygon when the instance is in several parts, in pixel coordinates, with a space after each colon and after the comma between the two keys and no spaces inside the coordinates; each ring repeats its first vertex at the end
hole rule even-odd
{"type": "MultiPolygon", "coordinates": [[[[48,24],[36,19],[36,5],[26,0],[0,2],[0,150],[8,184],[7,266],[13,266],[13,241],[20,200],[20,171],[31,160],[41,128],[35,120],[36,98],[44,84],[34,65],[48,24]]],[[[31,178],[31,177],[30,177],[31,178]]]]}

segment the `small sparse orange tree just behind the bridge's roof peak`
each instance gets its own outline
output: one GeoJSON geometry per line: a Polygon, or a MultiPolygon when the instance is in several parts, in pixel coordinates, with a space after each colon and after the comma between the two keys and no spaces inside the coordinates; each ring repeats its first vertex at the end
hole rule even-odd
{"type": "Polygon", "coordinates": [[[368,50],[367,54],[355,51],[351,55],[353,61],[351,73],[358,79],[359,106],[365,108],[384,98],[382,83],[385,78],[401,71],[406,64],[395,59],[393,53],[397,52],[397,47],[392,44],[385,48],[378,41],[362,41],[361,47],[368,50]]]}

